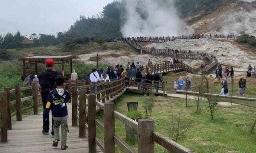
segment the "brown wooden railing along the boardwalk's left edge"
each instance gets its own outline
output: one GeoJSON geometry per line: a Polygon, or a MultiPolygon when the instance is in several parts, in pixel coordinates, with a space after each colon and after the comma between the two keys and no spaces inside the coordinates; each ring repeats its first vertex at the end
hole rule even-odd
{"type": "Polygon", "coordinates": [[[0,92],[1,97],[1,142],[7,142],[7,129],[12,129],[12,117],[16,115],[16,120],[22,120],[22,112],[33,109],[34,114],[38,114],[38,86],[33,82],[32,86],[20,87],[16,85],[15,89],[5,88],[4,92],[0,92]],[[32,90],[32,96],[22,97],[21,91],[32,90]],[[14,99],[12,99],[14,98],[14,99]],[[26,100],[33,100],[32,106],[22,108],[22,104],[26,100]],[[11,112],[12,105],[15,111],[11,112]],[[6,129],[6,130],[5,130],[6,129]],[[4,133],[4,134],[2,134],[4,133]],[[6,134],[5,134],[6,133],[6,134]],[[2,136],[3,135],[3,136],[2,136]],[[2,140],[3,139],[3,140],[2,140]]]}

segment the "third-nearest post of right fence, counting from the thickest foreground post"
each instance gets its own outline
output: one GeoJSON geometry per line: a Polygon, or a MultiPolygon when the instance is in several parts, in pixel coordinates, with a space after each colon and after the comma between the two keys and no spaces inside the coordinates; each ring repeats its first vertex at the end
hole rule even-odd
{"type": "Polygon", "coordinates": [[[95,105],[96,96],[95,94],[89,94],[88,96],[88,145],[89,153],[96,153],[96,105],[95,105]]]}

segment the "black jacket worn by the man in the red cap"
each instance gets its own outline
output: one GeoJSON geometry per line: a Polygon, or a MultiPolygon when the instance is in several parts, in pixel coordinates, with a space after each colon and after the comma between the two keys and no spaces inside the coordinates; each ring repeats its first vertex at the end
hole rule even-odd
{"type": "Polygon", "coordinates": [[[46,69],[43,73],[41,73],[38,77],[39,84],[42,87],[42,90],[45,89],[54,89],[56,88],[55,78],[58,75],[62,75],[62,73],[57,72],[54,69],[46,69]]]}

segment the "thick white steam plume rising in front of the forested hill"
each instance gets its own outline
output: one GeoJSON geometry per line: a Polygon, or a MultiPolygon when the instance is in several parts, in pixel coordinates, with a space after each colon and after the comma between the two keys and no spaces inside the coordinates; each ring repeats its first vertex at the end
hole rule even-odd
{"type": "Polygon", "coordinates": [[[126,22],[122,35],[172,36],[194,31],[177,15],[173,0],[126,0],[126,22]]]}

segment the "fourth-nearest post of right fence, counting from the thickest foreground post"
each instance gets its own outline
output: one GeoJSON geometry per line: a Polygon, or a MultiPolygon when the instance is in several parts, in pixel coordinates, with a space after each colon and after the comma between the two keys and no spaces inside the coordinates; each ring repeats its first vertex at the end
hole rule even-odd
{"type": "Polygon", "coordinates": [[[85,137],[85,109],[86,109],[86,90],[80,89],[79,92],[79,137],[85,137]]]}

